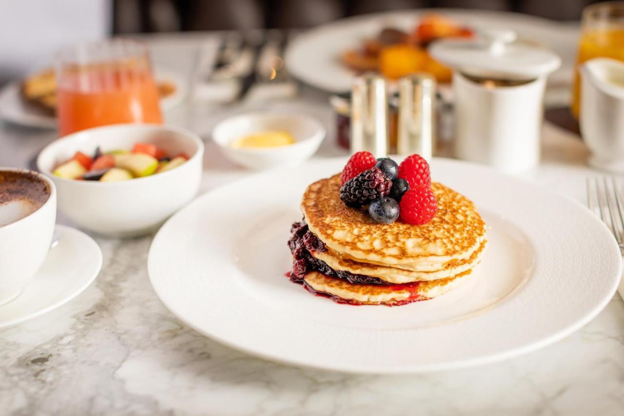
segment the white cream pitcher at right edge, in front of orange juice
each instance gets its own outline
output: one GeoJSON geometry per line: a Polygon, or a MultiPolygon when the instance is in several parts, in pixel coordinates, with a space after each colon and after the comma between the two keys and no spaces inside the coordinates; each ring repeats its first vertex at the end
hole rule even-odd
{"type": "Polygon", "coordinates": [[[624,62],[595,58],[580,72],[580,129],[590,165],[624,173],[624,62]]]}

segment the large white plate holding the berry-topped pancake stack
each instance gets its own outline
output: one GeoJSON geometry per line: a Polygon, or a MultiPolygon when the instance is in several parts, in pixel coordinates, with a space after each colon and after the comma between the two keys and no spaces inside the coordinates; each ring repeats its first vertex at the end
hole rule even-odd
{"type": "Polygon", "coordinates": [[[466,162],[437,159],[434,181],[472,199],[490,247],[465,285],[400,307],[351,306],[290,282],[286,240],[306,186],[344,159],[276,169],[208,192],[156,235],[156,293],[202,334],[250,354],[358,373],[451,369],[506,359],[587,324],[613,296],[620,251],[565,197],[466,162]]]}

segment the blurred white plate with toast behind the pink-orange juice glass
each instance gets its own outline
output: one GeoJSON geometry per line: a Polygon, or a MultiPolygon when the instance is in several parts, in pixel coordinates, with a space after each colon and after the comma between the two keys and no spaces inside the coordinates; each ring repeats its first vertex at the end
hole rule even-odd
{"type": "MultiPolygon", "coordinates": [[[[160,101],[162,111],[169,111],[184,101],[188,86],[184,77],[167,69],[155,69],[158,81],[175,84],[175,92],[160,101]]],[[[0,91],[0,118],[21,126],[39,129],[56,129],[56,117],[50,116],[34,106],[27,105],[21,97],[19,82],[11,82],[0,91]]]]}

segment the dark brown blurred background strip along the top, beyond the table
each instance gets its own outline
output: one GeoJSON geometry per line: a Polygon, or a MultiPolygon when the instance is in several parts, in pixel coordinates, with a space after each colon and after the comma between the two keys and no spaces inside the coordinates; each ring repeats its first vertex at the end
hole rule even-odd
{"type": "Polygon", "coordinates": [[[357,14],[456,7],[580,18],[588,0],[114,0],[113,32],[313,27],[357,14]]]}

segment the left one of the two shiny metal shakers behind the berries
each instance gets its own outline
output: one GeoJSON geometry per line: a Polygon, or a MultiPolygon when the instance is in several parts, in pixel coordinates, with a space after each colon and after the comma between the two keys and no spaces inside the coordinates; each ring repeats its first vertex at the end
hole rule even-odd
{"type": "Polygon", "coordinates": [[[388,154],[388,97],[386,80],[366,74],[356,78],[351,92],[351,152],[388,154]]]}

